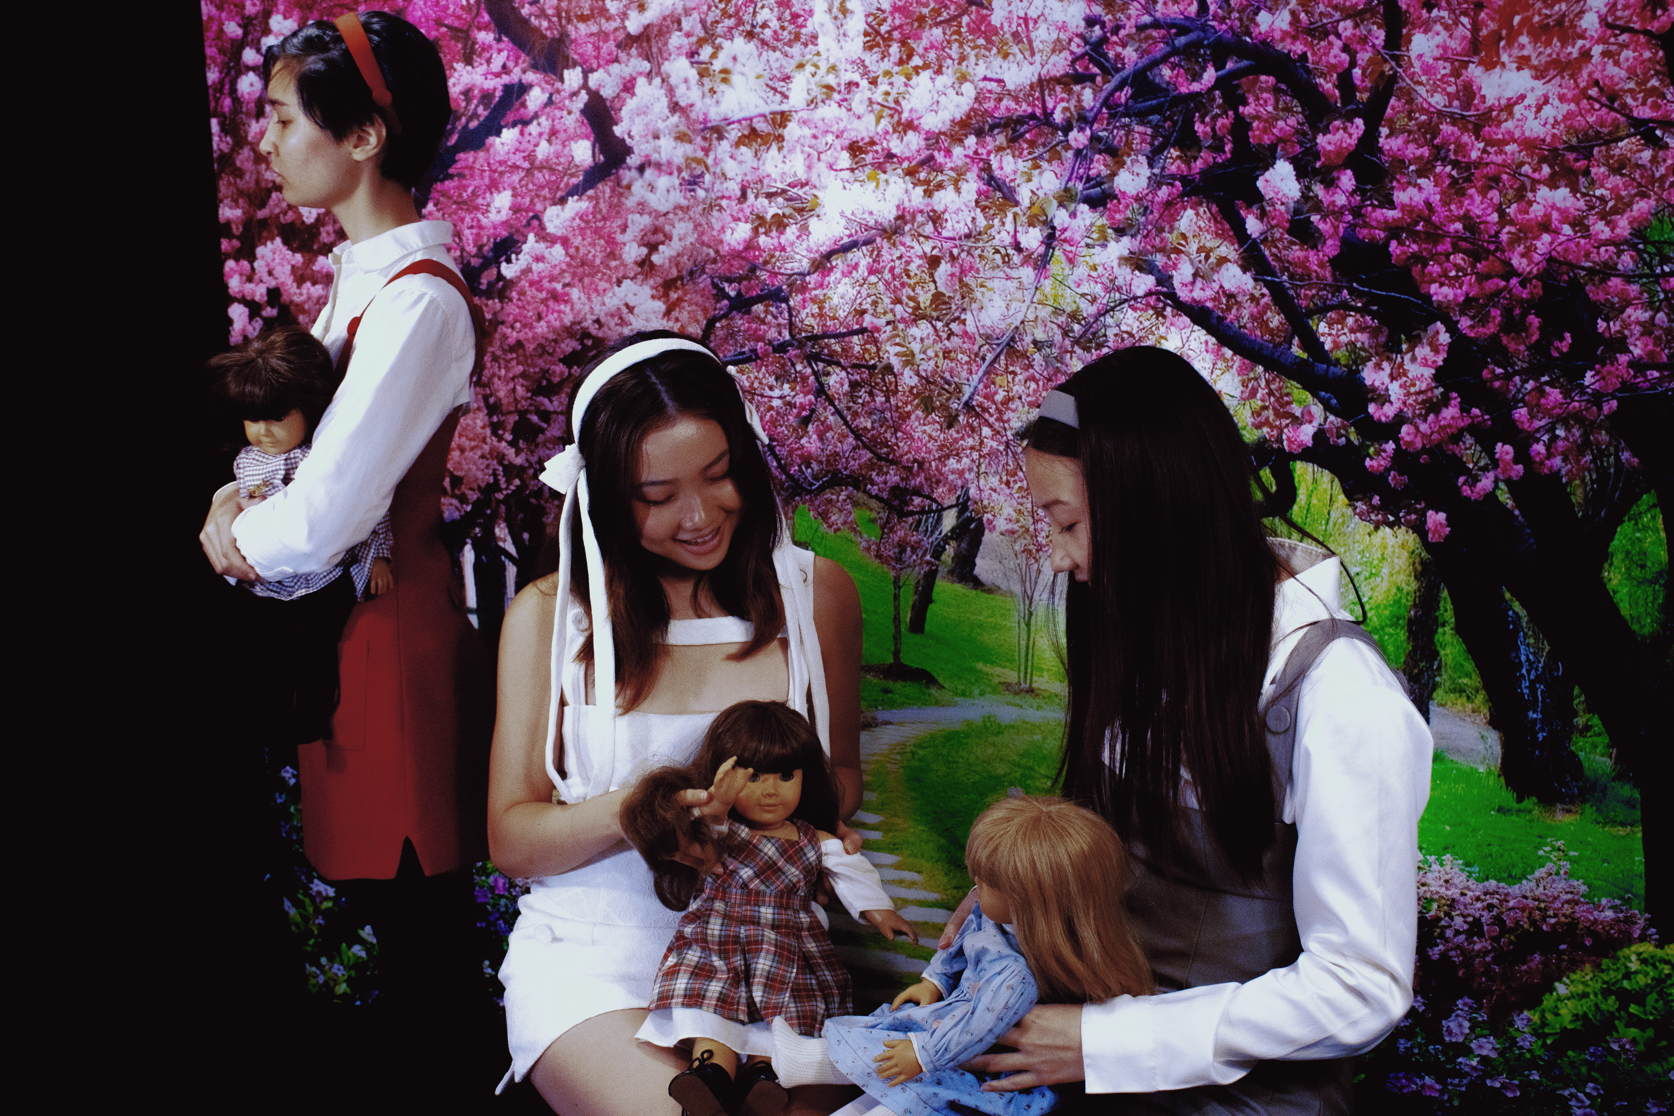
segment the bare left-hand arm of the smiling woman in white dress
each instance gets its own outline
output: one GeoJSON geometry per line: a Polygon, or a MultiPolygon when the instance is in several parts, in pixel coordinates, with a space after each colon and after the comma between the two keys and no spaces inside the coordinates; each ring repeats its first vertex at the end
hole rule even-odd
{"type": "MultiPolygon", "coordinates": [[[[619,810],[628,791],[573,805],[552,803],[552,780],[546,775],[546,718],[552,622],[557,617],[556,582],[556,576],[544,577],[519,592],[506,609],[501,629],[494,751],[489,758],[489,857],[501,872],[526,878],[569,872],[626,840],[619,810]]],[[[708,798],[708,791],[685,791],[685,805],[701,806],[708,798]]]]}

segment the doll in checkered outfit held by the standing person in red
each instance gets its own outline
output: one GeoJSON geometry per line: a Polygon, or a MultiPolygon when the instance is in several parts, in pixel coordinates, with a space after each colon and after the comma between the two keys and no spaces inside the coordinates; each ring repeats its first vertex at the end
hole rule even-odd
{"type": "MultiPolygon", "coordinates": [[[[243,420],[249,442],[233,458],[238,494],[271,500],[290,485],[313,448],[313,430],[338,381],[331,355],[306,330],[280,326],[213,358],[209,366],[223,402],[243,420]]],[[[249,594],[241,626],[264,653],[263,689],[290,696],[278,709],[278,735],[288,743],[325,736],[336,708],[338,637],[357,599],[388,592],[395,584],[390,544],[385,512],[372,534],[330,569],[238,582],[249,594]]]]}

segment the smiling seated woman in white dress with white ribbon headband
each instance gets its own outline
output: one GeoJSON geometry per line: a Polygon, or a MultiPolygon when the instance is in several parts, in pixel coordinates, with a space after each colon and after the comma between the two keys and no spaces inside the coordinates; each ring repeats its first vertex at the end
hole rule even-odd
{"type": "MultiPolygon", "coordinates": [[[[566,494],[556,571],[501,634],[489,847],[534,878],[501,969],[507,1078],[559,1113],[673,1114],[685,1062],[634,1032],[678,915],[623,838],[624,788],[688,763],[735,701],[788,701],[832,758],[839,817],[854,813],[860,597],[790,545],[753,408],[703,345],[658,331],[614,346],[576,392],[571,435],[542,477],[566,494]]],[[[844,1096],[805,1086],[787,1111],[844,1096]]]]}

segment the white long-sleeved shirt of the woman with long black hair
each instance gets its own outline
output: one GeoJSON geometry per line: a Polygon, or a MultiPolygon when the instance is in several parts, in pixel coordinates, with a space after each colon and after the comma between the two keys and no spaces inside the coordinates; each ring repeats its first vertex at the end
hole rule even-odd
{"type": "MultiPolygon", "coordinates": [[[[1264,699],[1297,629],[1348,616],[1338,607],[1339,574],[1331,557],[1281,582],[1264,699]]],[[[1333,642],[1302,679],[1284,801],[1297,830],[1301,957],[1247,984],[1085,1006],[1086,1091],[1230,1084],[1257,1061],[1376,1046],[1413,1002],[1418,815],[1430,798],[1431,748],[1381,656],[1358,641],[1333,642]]]]}

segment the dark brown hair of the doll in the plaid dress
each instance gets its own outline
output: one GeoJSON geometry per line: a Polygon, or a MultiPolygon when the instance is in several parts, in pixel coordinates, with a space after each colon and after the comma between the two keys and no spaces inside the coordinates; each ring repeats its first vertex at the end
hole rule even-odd
{"type": "MultiPolygon", "coordinates": [[[[790,811],[817,830],[837,830],[837,781],[820,736],[809,719],[783,701],[740,701],[721,709],[703,736],[696,760],[683,768],[656,768],[643,775],[621,806],[623,833],[651,865],[656,897],[670,910],[685,910],[703,878],[691,865],[670,860],[681,845],[705,848],[713,858],[728,848],[718,843],[703,818],[693,818],[678,791],[708,790],[727,760],[757,775],[802,771],[802,800],[790,811]]],[[[733,810],[732,818],[743,823],[733,810]]]]}

